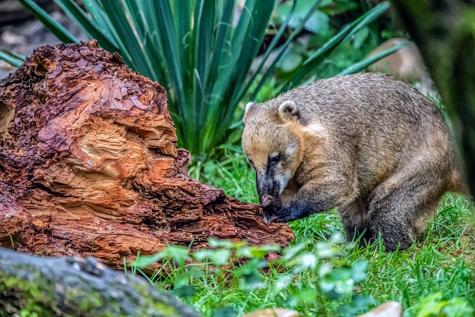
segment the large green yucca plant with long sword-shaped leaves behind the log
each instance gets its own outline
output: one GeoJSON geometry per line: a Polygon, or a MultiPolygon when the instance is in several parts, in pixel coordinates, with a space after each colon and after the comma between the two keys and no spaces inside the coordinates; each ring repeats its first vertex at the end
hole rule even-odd
{"type": "MultiPolygon", "coordinates": [[[[19,1],[61,41],[78,41],[32,0],[19,1]]],[[[128,67],[165,87],[179,144],[198,158],[206,158],[223,140],[239,102],[256,81],[271,51],[278,50],[277,58],[259,76],[252,98],[271,76],[285,48],[322,4],[322,0],[310,1],[314,3],[311,10],[285,44],[276,48],[293,16],[297,0],[293,2],[257,71],[249,74],[278,1],[246,0],[233,26],[235,0],[83,0],[87,12],[73,0],[55,0],[102,48],[118,52],[128,67]]],[[[283,91],[299,85],[340,43],[388,7],[389,3],[383,2],[343,28],[295,71],[282,86],[283,91]]],[[[365,59],[343,73],[356,72],[399,48],[365,59]]],[[[22,61],[22,57],[8,52],[0,52],[0,58],[13,65],[22,61]]]]}

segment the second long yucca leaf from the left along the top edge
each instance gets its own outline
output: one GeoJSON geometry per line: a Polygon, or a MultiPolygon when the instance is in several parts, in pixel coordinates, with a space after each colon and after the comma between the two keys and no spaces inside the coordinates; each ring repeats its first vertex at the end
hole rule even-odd
{"type": "Polygon", "coordinates": [[[105,50],[113,53],[119,48],[112,42],[112,38],[105,36],[99,29],[99,26],[91,21],[85,12],[73,0],[55,0],[56,4],[63,9],[69,19],[72,19],[80,26],[89,38],[97,39],[99,45],[105,50]]]}

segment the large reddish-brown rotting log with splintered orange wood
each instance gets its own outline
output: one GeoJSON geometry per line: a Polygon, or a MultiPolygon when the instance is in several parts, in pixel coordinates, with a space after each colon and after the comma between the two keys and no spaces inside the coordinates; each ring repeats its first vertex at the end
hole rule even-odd
{"type": "Polygon", "coordinates": [[[0,81],[1,246],[118,268],[211,236],[288,245],[286,224],[188,177],[166,102],[95,41],[37,48],[0,81]]]}

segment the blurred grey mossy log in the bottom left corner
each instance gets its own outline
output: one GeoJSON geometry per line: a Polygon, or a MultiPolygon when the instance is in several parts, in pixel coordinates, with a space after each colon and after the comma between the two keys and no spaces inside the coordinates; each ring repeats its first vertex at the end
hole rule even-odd
{"type": "Polygon", "coordinates": [[[145,279],[94,258],[39,258],[0,248],[0,316],[21,309],[39,317],[200,316],[145,279]]]}

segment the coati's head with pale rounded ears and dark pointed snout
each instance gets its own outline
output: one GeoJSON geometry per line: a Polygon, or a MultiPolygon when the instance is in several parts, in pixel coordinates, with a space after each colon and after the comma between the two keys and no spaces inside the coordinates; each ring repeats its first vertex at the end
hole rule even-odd
{"type": "Polygon", "coordinates": [[[282,207],[280,194],[302,161],[301,140],[295,133],[300,124],[297,107],[292,101],[274,109],[249,103],[244,123],[242,146],[256,170],[259,203],[264,207],[264,221],[270,223],[272,214],[282,207]]]}

